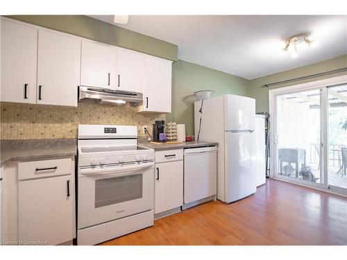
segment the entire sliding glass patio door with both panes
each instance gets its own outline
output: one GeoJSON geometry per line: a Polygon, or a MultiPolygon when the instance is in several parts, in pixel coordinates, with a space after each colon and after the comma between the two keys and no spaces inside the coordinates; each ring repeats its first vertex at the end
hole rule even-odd
{"type": "Polygon", "coordinates": [[[273,176],[347,193],[347,85],[273,95],[273,176]]]}

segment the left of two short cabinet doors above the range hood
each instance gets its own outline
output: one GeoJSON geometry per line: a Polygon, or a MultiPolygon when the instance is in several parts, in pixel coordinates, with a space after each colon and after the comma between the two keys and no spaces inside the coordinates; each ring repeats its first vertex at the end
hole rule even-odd
{"type": "Polygon", "coordinates": [[[116,48],[82,42],[81,85],[87,87],[115,87],[115,53],[116,48]]]}

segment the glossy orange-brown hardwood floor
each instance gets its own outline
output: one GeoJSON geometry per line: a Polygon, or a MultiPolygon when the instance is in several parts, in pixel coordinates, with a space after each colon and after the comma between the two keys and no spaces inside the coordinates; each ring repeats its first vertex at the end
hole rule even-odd
{"type": "Polygon", "coordinates": [[[347,198],[271,179],[243,200],[207,202],[101,245],[347,245],[347,198]]]}

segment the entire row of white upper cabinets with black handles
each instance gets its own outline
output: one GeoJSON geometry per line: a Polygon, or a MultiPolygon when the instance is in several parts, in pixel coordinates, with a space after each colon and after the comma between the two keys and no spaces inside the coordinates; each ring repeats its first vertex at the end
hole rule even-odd
{"type": "Polygon", "coordinates": [[[77,106],[78,85],[142,93],[137,112],[171,112],[169,60],[1,18],[3,102],[77,106]]]}

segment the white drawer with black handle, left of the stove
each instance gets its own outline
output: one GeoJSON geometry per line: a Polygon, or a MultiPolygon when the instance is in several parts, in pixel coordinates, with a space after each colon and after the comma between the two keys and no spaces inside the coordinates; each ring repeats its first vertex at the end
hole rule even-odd
{"type": "Polygon", "coordinates": [[[58,175],[70,175],[71,171],[72,160],[70,158],[19,162],[18,180],[53,177],[58,175]]]}

